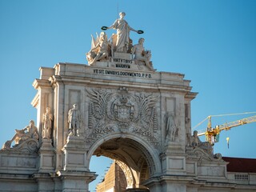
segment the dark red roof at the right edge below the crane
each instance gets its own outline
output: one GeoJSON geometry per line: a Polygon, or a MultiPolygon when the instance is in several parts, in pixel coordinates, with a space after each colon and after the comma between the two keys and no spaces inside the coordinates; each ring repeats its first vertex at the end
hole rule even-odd
{"type": "Polygon", "coordinates": [[[226,166],[228,172],[256,173],[256,158],[228,158],[222,157],[225,162],[230,162],[226,166]]]}

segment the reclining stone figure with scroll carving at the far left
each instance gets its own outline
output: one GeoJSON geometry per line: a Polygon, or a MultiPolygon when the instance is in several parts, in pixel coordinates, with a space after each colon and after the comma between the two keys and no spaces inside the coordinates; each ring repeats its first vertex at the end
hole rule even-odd
{"type": "Polygon", "coordinates": [[[26,126],[22,130],[15,130],[14,137],[5,142],[2,146],[2,150],[14,150],[14,151],[27,151],[36,152],[39,147],[38,143],[38,128],[34,126],[34,121],[30,120],[30,125],[26,126]],[[15,145],[11,148],[11,143],[15,142],[15,145]]]}

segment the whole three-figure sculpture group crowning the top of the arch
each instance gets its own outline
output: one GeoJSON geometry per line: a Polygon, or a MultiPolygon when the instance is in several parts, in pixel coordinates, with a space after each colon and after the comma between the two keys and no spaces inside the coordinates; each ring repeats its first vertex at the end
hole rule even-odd
{"type": "MultiPolygon", "coordinates": [[[[128,22],[124,19],[126,16],[124,12],[121,12],[119,16],[120,18],[115,20],[112,26],[102,26],[102,30],[114,29],[117,30],[117,34],[112,34],[110,39],[107,39],[105,32],[101,32],[100,37],[96,33],[96,40],[92,36],[91,49],[86,53],[88,64],[91,66],[96,65],[98,61],[113,62],[112,58],[119,58],[134,61],[131,63],[136,64],[139,70],[147,68],[148,70],[155,71],[150,61],[151,51],[145,50],[143,46],[145,39],[139,38],[136,45],[133,45],[133,41],[130,39],[131,30],[138,34],[143,34],[143,30],[134,30],[134,28],[129,26],[128,22]]],[[[110,66],[113,67],[113,65],[110,66]]]]}

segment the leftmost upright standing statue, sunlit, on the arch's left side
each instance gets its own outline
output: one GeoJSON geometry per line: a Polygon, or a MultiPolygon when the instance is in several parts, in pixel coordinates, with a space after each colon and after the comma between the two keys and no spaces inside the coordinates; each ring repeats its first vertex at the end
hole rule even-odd
{"type": "Polygon", "coordinates": [[[42,138],[51,138],[51,130],[52,130],[52,121],[53,114],[50,113],[50,107],[46,107],[46,113],[43,114],[42,117],[43,128],[42,128],[42,138]]]}

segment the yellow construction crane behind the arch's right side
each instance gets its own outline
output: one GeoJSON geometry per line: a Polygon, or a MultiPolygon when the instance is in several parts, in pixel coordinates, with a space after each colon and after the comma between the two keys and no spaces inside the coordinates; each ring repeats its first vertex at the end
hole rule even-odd
{"type": "MultiPolygon", "coordinates": [[[[206,118],[206,119],[208,119],[208,125],[207,125],[207,128],[206,128],[206,131],[203,132],[203,133],[198,132],[198,136],[206,135],[206,141],[210,142],[210,144],[214,144],[214,142],[218,142],[219,134],[222,130],[230,130],[231,128],[233,128],[235,126],[242,126],[242,125],[248,124],[250,122],[256,122],[256,115],[254,115],[254,116],[251,116],[251,117],[248,117],[248,118],[239,119],[239,120],[234,121],[234,122],[226,122],[222,125],[215,126],[215,128],[212,128],[211,118],[214,117],[214,116],[216,117],[216,116],[224,116],[224,115],[210,115],[210,116],[208,116],[206,118]]],[[[199,123],[199,124],[201,124],[201,123],[199,123]]]]}

